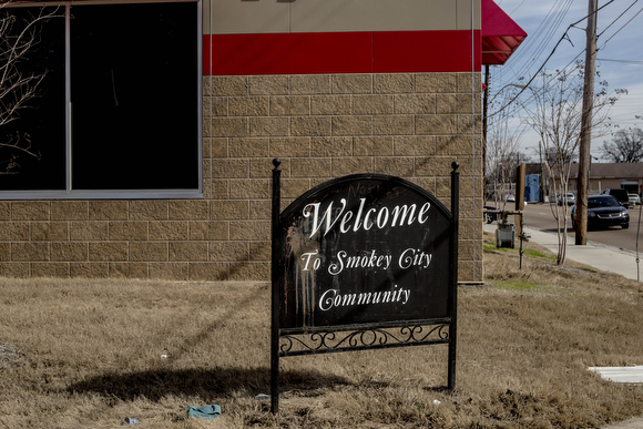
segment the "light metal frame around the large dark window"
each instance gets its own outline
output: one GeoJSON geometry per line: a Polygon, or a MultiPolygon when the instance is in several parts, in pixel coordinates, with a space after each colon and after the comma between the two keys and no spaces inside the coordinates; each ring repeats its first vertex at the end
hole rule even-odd
{"type": "Polygon", "coordinates": [[[38,1],[9,3],[9,8],[21,7],[64,7],[64,116],[65,116],[65,188],[54,191],[1,191],[2,200],[176,200],[203,198],[203,0],[88,0],[88,1],[38,1]],[[196,3],[196,136],[197,141],[197,186],[195,188],[142,188],[142,190],[73,190],[72,188],[72,114],[71,105],[71,8],[74,6],[104,6],[104,4],[141,4],[141,3],[196,3]]]}

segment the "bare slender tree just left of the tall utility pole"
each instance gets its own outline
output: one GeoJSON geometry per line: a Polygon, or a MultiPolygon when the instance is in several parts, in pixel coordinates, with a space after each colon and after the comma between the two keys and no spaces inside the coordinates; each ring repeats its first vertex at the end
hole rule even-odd
{"type": "MultiPolygon", "coordinates": [[[[534,80],[535,82],[537,80],[534,80]]],[[[539,86],[530,86],[531,100],[524,104],[525,123],[541,139],[543,150],[548,154],[543,164],[549,181],[549,195],[553,217],[558,225],[559,252],[557,264],[563,265],[567,253],[569,206],[564,195],[570,192],[570,167],[575,156],[581,136],[581,115],[583,100],[583,65],[578,63],[572,70],[555,73],[541,72],[539,86]],[[561,197],[561,205],[555,204],[561,197]],[[553,200],[553,201],[552,201],[553,200]]],[[[608,92],[608,82],[599,82],[594,91],[594,109],[592,130],[595,136],[606,133],[608,111],[618,96],[624,91],[608,92]]]]}

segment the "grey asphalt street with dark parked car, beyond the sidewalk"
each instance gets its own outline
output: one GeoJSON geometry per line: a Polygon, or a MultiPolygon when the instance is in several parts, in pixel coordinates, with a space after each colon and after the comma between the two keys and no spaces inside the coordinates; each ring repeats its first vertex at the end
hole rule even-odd
{"type": "MultiPolygon", "coordinates": [[[[630,228],[623,229],[621,227],[610,227],[608,229],[591,229],[588,233],[588,239],[592,242],[599,242],[610,246],[619,247],[626,251],[636,251],[636,233],[639,229],[639,216],[640,207],[630,208],[630,228]]],[[[557,222],[552,215],[552,208],[549,204],[525,204],[524,206],[524,225],[534,228],[543,229],[547,232],[557,231],[557,222]]],[[[506,210],[513,210],[513,205],[507,204],[506,210]]],[[[559,210],[562,208],[559,206],[559,210]]],[[[571,206],[568,207],[568,233],[569,236],[574,238],[575,233],[571,226],[571,206]]],[[[562,225],[562,219],[561,219],[562,225]]],[[[640,249],[643,252],[643,239],[640,238],[639,243],[640,249]]]]}

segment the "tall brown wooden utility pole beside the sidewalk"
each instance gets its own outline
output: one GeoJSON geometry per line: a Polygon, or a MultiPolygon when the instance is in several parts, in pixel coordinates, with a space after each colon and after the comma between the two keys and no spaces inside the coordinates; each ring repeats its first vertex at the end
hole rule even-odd
{"type": "Polygon", "coordinates": [[[579,147],[579,180],[576,198],[576,245],[588,244],[588,191],[590,181],[590,146],[592,142],[592,113],[594,108],[594,69],[596,63],[596,9],[599,0],[588,7],[588,43],[585,48],[585,82],[579,147]]]}

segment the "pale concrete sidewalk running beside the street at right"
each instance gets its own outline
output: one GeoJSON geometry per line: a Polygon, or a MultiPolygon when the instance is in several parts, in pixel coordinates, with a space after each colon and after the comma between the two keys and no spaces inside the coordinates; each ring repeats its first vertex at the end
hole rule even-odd
{"type": "MultiPolygon", "coordinates": [[[[496,224],[484,224],[486,232],[496,234],[497,228],[498,225],[496,224]]],[[[558,253],[558,236],[555,233],[543,232],[528,226],[524,227],[524,232],[531,235],[532,242],[547,247],[554,254],[558,253]]],[[[519,241],[517,238],[516,247],[518,246],[519,241]]],[[[643,268],[640,268],[640,264],[636,264],[636,254],[634,252],[595,242],[588,242],[585,246],[576,246],[573,237],[568,237],[565,257],[604,272],[621,274],[633,280],[643,279],[643,272],[640,272],[643,268]]],[[[643,259],[643,254],[641,258],[643,259]]],[[[641,427],[643,428],[643,426],[641,427]]]]}

